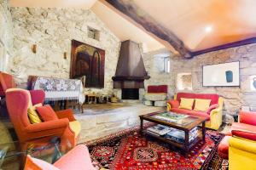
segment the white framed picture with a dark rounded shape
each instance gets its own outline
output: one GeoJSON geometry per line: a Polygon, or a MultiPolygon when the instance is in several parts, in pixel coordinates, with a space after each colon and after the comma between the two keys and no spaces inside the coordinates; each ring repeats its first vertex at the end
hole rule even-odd
{"type": "Polygon", "coordinates": [[[203,66],[203,86],[236,87],[240,86],[239,61],[203,66]]]}

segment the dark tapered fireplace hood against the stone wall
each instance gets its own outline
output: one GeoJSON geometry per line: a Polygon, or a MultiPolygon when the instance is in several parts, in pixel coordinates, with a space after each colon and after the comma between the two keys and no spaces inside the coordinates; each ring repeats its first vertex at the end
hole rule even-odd
{"type": "Polygon", "coordinates": [[[113,88],[144,88],[144,80],[149,78],[137,42],[121,42],[113,88]]]}

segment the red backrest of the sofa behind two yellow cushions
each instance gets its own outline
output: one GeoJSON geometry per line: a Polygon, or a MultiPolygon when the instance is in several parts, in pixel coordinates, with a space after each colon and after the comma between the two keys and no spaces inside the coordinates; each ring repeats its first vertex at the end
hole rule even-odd
{"type": "Polygon", "coordinates": [[[190,94],[190,93],[177,93],[177,101],[180,102],[181,98],[187,99],[211,99],[211,105],[218,104],[218,94],[190,94]]]}

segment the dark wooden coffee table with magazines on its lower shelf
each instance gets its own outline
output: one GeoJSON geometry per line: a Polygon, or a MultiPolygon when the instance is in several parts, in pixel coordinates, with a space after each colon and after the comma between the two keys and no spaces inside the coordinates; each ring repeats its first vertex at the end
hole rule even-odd
{"type": "Polygon", "coordinates": [[[200,140],[205,141],[207,118],[201,116],[162,111],[142,115],[140,120],[141,133],[146,133],[186,152],[200,140]],[[144,129],[144,120],[158,125],[144,129]],[[200,125],[201,128],[198,127],[200,125]]]}

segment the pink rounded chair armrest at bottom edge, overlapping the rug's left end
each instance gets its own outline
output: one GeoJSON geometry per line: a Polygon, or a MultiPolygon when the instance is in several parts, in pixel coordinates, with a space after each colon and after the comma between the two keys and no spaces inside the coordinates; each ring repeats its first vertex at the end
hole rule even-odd
{"type": "Polygon", "coordinates": [[[61,170],[80,169],[80,170],[96,170],[90,160],[88,148],[84,144],[79,144],[56,161],[55,167],[61,170]]]}

